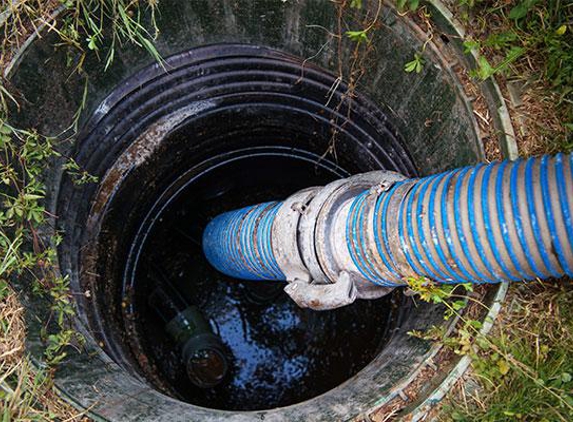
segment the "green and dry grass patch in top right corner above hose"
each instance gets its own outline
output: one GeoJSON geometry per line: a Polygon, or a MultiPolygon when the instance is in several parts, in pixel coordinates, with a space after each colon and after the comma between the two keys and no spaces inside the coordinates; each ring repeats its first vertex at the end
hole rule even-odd
{"type": "Polygon", "coordinates": [[[519,86],[522,155],[573,150],[573,2],[458,0],[474,76],[519,86]]]}

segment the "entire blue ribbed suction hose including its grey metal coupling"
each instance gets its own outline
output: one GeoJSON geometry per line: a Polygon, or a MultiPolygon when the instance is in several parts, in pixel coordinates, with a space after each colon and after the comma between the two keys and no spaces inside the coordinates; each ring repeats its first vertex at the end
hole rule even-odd
{"type": "Polygon", "coordinates": [[[376,171],[213,219],[209,262],[287,280],[301,306],[374,298],[410,277],[439,283],[573,276],[573,155],[407,179],[376,171]]]}

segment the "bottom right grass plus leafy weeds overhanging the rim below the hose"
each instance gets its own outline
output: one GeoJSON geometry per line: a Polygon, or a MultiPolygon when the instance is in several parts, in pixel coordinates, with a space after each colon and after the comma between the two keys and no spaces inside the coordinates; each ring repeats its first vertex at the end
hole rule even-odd
{"type": "Polygon", "coordinates": [[[444,305],[445,319],[459,317],[453,333],[433,327],[410,335],[471,357],[471,371],[450,392],[437,420],[573,420],[570,279],[512,284],[507,305],[487,335],[480,333],[481,321],[460,312],[465,307],[461,294],[471,285],[440,286],[421,278],[410,279],[409,287],[420,299],[444,305]]]}

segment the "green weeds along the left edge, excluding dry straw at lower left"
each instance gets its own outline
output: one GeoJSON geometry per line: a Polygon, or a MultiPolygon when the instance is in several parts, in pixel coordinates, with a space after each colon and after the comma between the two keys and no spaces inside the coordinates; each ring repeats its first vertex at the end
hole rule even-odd
{"type": "MultiPolygon", "coordinates": [[[[60,36],[62,44],[70,45],[81,53],[77,71],[88,52],[98,54],[104,40],[110,46],[105,60],[107,68],[113,61],[116,45],[131,42],[146,49],[156,60],[161,58],[153,46],[152,34],[142,24],[142,7],[152,9],[154,21],[156,2],[146,4],[124,0],[62,0],[67,9],[59,15],[59,21],[52,18],[42,2],[15,2],[6,6],[10,13],[4,21],[5,37],[2,42],[3,60],[11,49],[20,42],[20,36],[29,33],[30,28],[48,25],[60,36]],[[111,23],[111,25],[110,25],[111,23]],[[104,25],[105,29],[104,29],[104,25]]],[[[83,105],[86,102],[87,84],[72,126],[76,127],[83,105]]],[[[65,348],[81,338],[66,326],[67,317],[74,308],[70,299],[68,281],[55,275],[56,252],[51,245],[42,244],[38,230],[46,220],[43,205],[45,186],[41,174],[60,154],[55,149],[55,140],[42,136],[33,129],[17,129],[9,121],[9,105],[16,104],[5,86],[0,84],[0,279],[8,280],[25,271],[35,280],[35,292],[46,295],[52,303],[52,320],[58,329],[46,332],[46,359],[55,364],[65,356],[65,348]]],[[[77,184],[94,183],[93,177],[71,158],[63,164],[72,180],[77,184]]]]}

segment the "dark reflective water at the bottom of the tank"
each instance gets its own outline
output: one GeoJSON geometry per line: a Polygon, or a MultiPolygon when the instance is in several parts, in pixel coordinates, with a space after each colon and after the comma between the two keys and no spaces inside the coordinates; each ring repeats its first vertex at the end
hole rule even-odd
{"type": "Polygon", "coordinates": [[[389,298],[326,312],[304,310],[282,291],[283,283],[229,278],[211,268],[201,251],[202,229],[219,212],[325,184],[338,177],[336,171],[278,155],[243,158],[190,183],[161,213],[129,290],[129,312],[137,316],[130,318],[137,321],[131,329],[139,339],[132,347],[148,378],[196,405],[258,410],[324,393],[376,356],[392,313],[389,298]],[[200,389],[186,378],[177,346],[147,305],[154,284],[161,282],[152,271],[197,305],[220,334],[230,370],[218,386],[200,389]]]}

